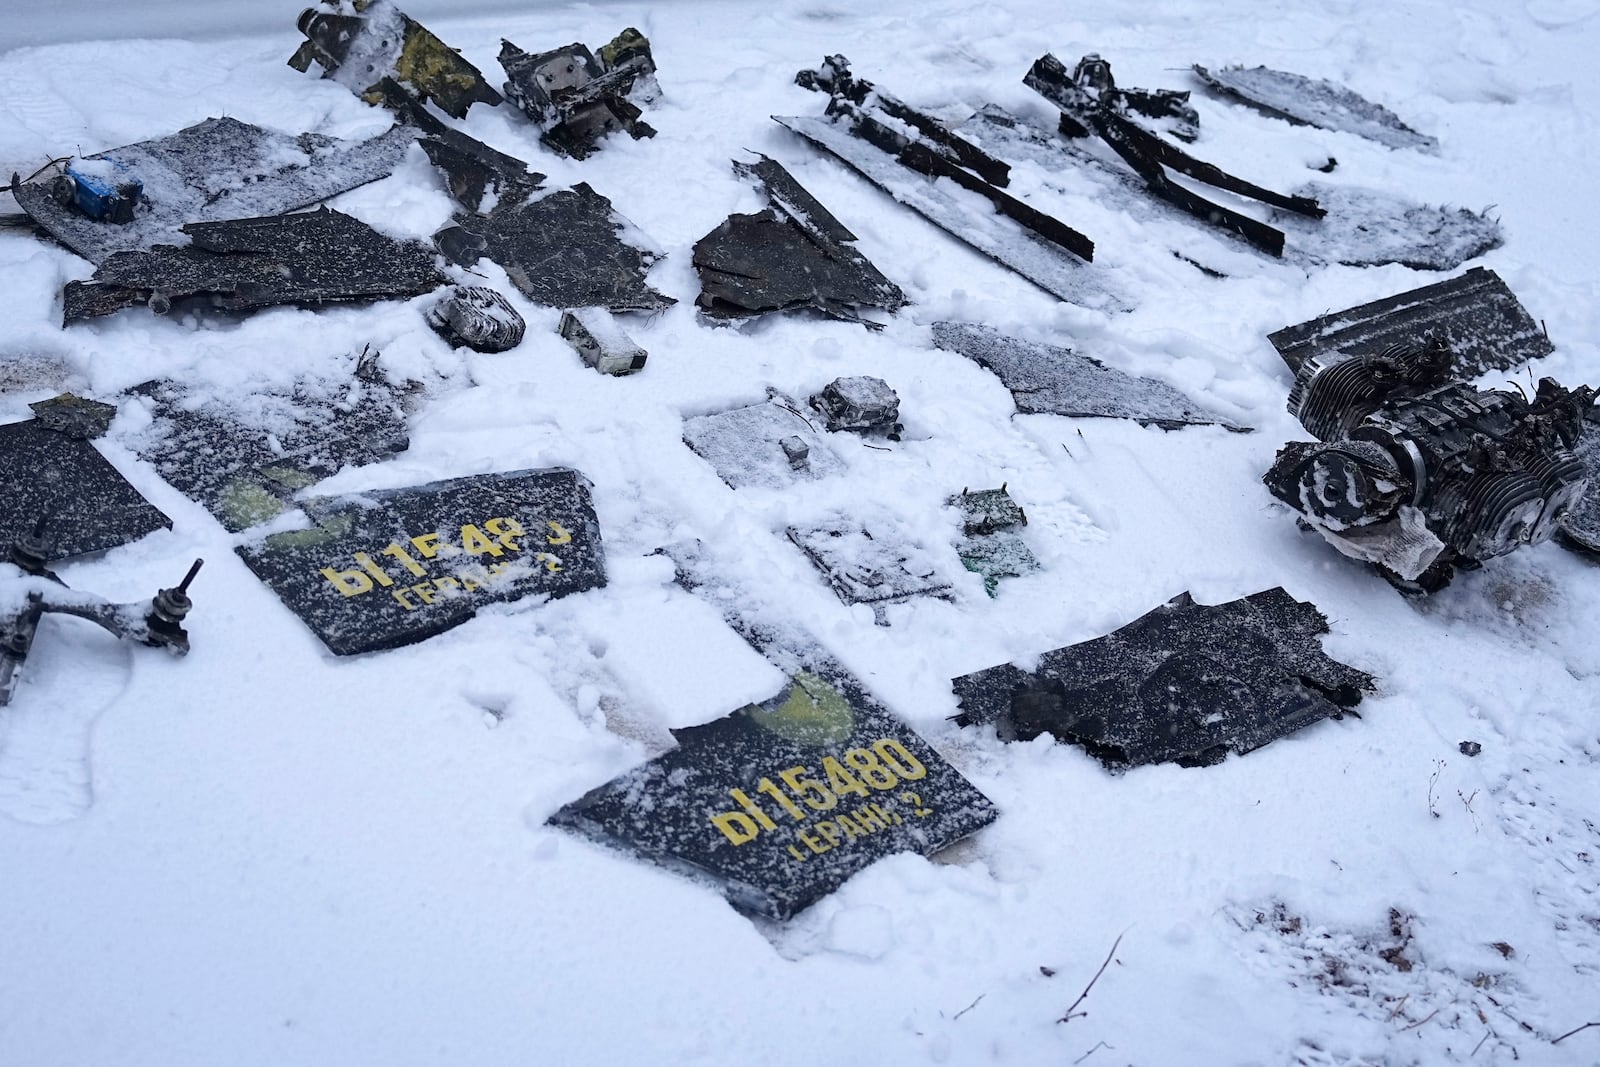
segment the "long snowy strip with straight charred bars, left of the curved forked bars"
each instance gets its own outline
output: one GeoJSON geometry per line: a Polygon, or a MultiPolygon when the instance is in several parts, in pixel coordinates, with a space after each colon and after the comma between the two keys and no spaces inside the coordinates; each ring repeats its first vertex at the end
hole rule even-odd
{"type": "Polygon", "coordinates": [[[1085,269],[1094,258],[1094,242],[1003,192],[1010,181],[1005,163],[936,118],[854,78],[843,56],[826,58],[816,70],[802,70],[795,82],[829,93],[827,117],[792,115],[776,122],[1051,296],[1088,307],[1123,307],[1085,269]],[[947,189],[939,178],[963,192],[947,189]]]}

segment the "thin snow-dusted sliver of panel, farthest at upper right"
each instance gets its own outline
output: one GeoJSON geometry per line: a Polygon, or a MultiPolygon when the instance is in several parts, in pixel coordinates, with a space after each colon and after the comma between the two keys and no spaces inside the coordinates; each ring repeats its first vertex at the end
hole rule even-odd
{"type": "Polygon", "coordinates": [[[1390,149],[1437,152],[1438,139],[1418,133],[1382,104],[1334,82],[1269,67],[1194,67],[1200,83],[1230,101],[1296,126],[1354,133],[1390,149]]]}

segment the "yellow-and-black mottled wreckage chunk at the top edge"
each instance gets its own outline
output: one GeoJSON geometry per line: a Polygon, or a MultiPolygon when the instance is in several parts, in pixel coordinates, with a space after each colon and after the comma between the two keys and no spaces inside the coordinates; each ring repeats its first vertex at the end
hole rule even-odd
{"type": "Polygon", "coordinates": [[[382,86],[390,78],[451,118],[466,118],[474,104],[501,102],[477,67],[389,0],[323,0],[322,6],[301,11],[306,40],[290,58],[296,70],[317,62],[322,77],[368,104],[392,102],[382,86]]]}

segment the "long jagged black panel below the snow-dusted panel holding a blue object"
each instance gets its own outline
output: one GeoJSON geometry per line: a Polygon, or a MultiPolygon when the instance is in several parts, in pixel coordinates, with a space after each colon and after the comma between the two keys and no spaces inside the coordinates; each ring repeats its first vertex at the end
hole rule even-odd
{"type": "Polygon", "coordinates": [[[248,312],[275,304],[317,306],[416,296],[445,285],[432,250],[384,237],[349,214],[318,208],[230,222],[190,222],[186,248],[110,256],[88,282],[62,290],[66,323],[147,304],[205,298],[210,307],[248,312]]]}

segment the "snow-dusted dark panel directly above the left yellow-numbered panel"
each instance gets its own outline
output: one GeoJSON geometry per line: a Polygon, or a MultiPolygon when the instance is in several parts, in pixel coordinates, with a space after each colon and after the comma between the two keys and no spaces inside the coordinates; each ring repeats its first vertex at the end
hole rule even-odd
{"type": "Polygon", "coordinates": [[[176,382],[136,392],[152,421],[128,445],[230,533],[294,507],[302,490],[410,445],[405,397],[366,352],[339,378],[302,378],[245,402],[195,403],[176,382]]]}

